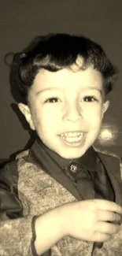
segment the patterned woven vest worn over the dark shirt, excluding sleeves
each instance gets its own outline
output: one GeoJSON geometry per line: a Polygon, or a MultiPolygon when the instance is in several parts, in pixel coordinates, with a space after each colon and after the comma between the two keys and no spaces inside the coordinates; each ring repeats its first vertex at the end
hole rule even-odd
{"type": "MultiPolygon", "coordinates": [[[[105,165],[113,189],[116,203],[122,206],[122,168],[120,159],[107,151],[96,150],[105,165]],[[121,169],[121,170],[120,170],[121,169]]],[[[23,205],[24,217],[43,214],[47,210],[61,206],[66,202],[75,202],[76,198],[36,165],[24,160],[28,150],[17,155],[18,159],[18,195],[23,205]]],[[[53,230],[52,230],[53,232],[53,230]]],[[[122,229],[112,239],[103,243],[99,249],[94,243],[79,241],[66,236],[51,247],[51,256],[120,256],[122,255],[122,229]]]]}

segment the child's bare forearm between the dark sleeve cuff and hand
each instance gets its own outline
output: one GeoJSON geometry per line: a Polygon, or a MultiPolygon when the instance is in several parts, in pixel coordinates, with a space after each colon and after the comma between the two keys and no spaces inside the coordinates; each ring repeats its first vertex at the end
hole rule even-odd
{"type": "Polygon", "coordinates": [[[58,240],[66,236],[66,217],[63,206],[54,208],[35,221],[35,249],[38,255],[49,250],[58,240]]]}

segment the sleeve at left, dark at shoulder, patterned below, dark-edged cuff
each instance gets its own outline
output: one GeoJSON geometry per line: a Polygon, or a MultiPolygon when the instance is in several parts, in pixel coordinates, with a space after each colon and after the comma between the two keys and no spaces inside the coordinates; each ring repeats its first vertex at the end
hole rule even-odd
{"type": "MultiPolygon", "coordinates": [[[[13,165],[15,169],[15,162],[13,165]]],[[[11,172],[9,166],[0,171],[0,255],[37,256],[34,242],[38,216],[23,217],[17,196],[17,173],[13,169],[11,172]]]]}

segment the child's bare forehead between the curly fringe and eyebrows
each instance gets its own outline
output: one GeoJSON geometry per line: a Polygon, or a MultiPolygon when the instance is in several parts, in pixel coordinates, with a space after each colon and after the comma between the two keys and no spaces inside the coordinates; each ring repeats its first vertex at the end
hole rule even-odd
{"type": "Polygon", "coordinates": [[[102,74],[93,66],[84,70],[76,70],[76,66],[72,66],[72,69],[61,69],[57,72],[40,70],[35,76],[32,91],[36,94],[39,90],[53,89],[54,87],[62,90],[96,87],[102,90],[102,74]]]}

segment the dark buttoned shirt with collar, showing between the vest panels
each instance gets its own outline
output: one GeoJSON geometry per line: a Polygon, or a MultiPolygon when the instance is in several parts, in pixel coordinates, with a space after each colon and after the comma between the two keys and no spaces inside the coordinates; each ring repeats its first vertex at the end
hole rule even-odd
{"type": "Polygon", "coordinates": [[[63,184],[78,200],[103,198],[115,201],[105,165],[93,147],[81,158],[65,159],[46,147],[38,137],[31,147],[27,161],[43,167],[46,173],[63,184]],[[75,191],[78,193],[74,194],[75,191]]]}

